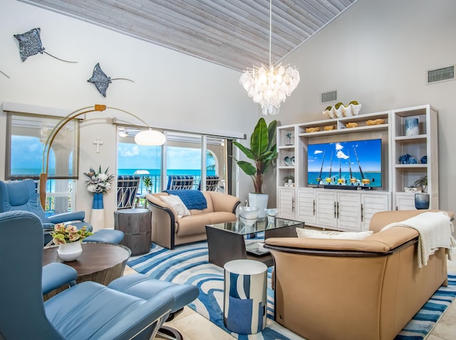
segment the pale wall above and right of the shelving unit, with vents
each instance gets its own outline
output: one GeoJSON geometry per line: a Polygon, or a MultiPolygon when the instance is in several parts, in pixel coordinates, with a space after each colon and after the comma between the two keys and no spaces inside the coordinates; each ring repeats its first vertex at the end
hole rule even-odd
{"type": "Polygon", "coordinates": [[[286,58],[301,83],[281,106],[283,125],[323,119],[320,93],[356,100],[361,113],[431,104],[439,111],[440,208],[456,211],[456,81],[425,85],[456,64],[456,1],[358,0],[286,58]]]}

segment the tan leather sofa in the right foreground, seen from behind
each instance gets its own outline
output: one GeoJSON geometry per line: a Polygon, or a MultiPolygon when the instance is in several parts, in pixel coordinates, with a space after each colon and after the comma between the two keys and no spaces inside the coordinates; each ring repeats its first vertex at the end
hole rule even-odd
{"type": "Polygon", "coordinates": [[[308,340],[394,339],[447,285],[445,249],[418,268],[416,230],[379,232],[421,212],[378,212],[374,234],[363,240],[266,239],[275,262],[276,321],[308,340]]]}

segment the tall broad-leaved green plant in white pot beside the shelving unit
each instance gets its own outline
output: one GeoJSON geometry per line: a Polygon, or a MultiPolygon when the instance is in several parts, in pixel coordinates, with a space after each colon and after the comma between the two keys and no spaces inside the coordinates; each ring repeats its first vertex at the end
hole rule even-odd
{"type": "Polygon", "coordinates": [[[239,168],[252,178],[254,192],[249,193],[249,205],[257,205],[260,208],[259,217],[266,216],[264,209],[267,207],[269,195],[264,194],[262,190],[263,175],[271,168],[272,163],[277,158],[276,128],[277,120],[272,120],[267,125],[264,118],[259,118],[250,137],[250,148],[246,148],[241,143],[233,142],[249,160],[253,160],[252,164],[246,160],[236,160],[234,158],[239,168]],[[262,204],[258,202],[261,198],[262,204]]]}

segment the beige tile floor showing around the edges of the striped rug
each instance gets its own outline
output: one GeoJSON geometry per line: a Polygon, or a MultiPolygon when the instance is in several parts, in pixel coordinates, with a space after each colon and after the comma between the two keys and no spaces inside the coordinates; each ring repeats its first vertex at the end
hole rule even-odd
{"type": "MultiPolygon", "coordinates": [[[[453,260],[448,261],[448,271],[456,273],[456,249],[452,252],[453,260]]],[[[134,269],[125,267],[125,275],[135,273],[134,269]]],[[[268,319],[269,321],[269,319],[268,319]]],[[[211,321],[197,314],[189,307],[185,307],[184,311],[179,314],[174,320],[167,322],[167,325],[180,331],[184,340],[234,340],[230,334],[220,329],[211,321]]],[[[162,339],[157,336],[157,339],[162,339]]],[[[302,340],[301,336],[296,336],[291,340],[302,340]]],[[[445,314],[432,329],[426,340],[454,340],[456,339],[456,299],[447,308],[445,314]]]]}

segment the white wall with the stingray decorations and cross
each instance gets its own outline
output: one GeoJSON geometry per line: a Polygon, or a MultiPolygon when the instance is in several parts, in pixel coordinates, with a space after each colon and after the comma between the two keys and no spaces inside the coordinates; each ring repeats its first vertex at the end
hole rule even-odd
{"type": "MultiPolygon", "coordinates": [[[[240,73],[206,61],[118,34],[100,26],[71,19],[14,0],[0,0],[0,104],[24,103],[60,108],[68,113],[95,103],[127,110],[140,116],[152,127],[195,132],[227,131],[249,135],[258,119],[257,105],[247,97],[238,79],[240,73]],[[40,27],[46,52],[69,61],[65,63],[46,54],[22,62],[14,34],[40,27]],[[106,98],[87,80],[100,63],[113,81],[106,98]]],[[[107,113],[117,117],[118,113],[107,113]]],[[[93,119],[81,127],[80,179],[90,166],[116,169],[116,137],[113,125],[105,119],[93,119]],[[93,140],[101,138],[100,153],[93,140]]],[[[138,124],[130,119],[131,123],[138,124]]],[[[1,145],[6,130],[5,114],[0,113],[1,145]]],[[[5,150],[0,148],[0,163],[5,150]]],[[[239,195],[247,196],[248,185],[241,185],[239,195]]],[[[0,169],[4,178],[4,169],[0,169]]],[[[91,209],[92,197],[83,180],[78,183],[76,208],[91,209]]],[[[105,196],[108,226],[113,225],[115,192],[105,196]]]]}

